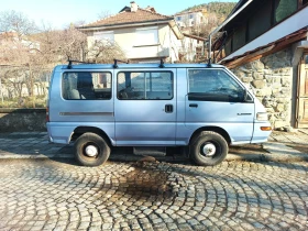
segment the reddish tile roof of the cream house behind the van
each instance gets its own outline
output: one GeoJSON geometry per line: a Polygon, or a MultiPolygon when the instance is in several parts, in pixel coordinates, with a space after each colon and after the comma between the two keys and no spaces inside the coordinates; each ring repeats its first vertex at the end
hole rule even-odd
{"type": "Polygon", "coordinates": [[[163,15],[156,13],[155,10],[144,10],[138,8],[138,11],[132,12],[131,8],[125,7],[123,10],[114,15],[99,20],[94,23],[89,23],[80,26],[82,28],[95,28],[95,26],[110,26],[110,25],[121,25],[121,24],[132,24],[132,23],[142,23],[142,22],[157,22],[165,20],[173,20],[173,16],[163,15]]]}

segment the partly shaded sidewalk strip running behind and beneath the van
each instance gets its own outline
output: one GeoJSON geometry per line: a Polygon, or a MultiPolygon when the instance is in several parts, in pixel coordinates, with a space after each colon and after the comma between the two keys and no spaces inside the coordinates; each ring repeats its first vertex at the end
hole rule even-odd
{"type": "MultiPolygon", "coordinates": [[[[110,161],[138,161],[142,156],[117,148],[110,161]]],[[[74,158],[73,145],[48,143],[46,132],[0,133],[0,160],[10,158],[74,158]]],[[[164,162],[183,162],[180,153],[156,157],[164,162]]],[[[296,132],[274,131],[268,142],[231,146],[227,161],[298,162],[308,161],[308,130],[296,132]]]]}

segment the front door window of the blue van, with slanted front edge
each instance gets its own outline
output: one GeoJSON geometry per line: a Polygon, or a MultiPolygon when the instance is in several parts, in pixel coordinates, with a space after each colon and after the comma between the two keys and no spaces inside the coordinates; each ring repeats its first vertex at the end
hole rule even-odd
{"type": "Polygon", "coordinates": [[[244,89],[222,69],[189,69],[188,100],[240,102],[244,89]]]}

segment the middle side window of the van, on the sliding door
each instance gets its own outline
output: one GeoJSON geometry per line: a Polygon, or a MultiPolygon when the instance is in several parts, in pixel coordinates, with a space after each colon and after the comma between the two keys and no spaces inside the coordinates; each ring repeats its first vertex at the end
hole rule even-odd
{"type": "Polygon", "coordinates": [[[117,96],[120,100],[173,99],[174,78],[170,72],[121,72],[117,96]]]}

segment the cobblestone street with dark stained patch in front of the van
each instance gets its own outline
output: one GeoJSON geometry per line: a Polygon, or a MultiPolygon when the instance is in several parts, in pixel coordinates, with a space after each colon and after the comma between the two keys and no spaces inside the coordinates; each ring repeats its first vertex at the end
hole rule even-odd
{"type": "Polygon", "coordinates": [[[0,168],[0,230],[308,230],[307,162],[0,168]]]}

